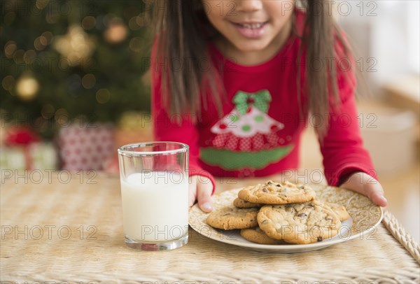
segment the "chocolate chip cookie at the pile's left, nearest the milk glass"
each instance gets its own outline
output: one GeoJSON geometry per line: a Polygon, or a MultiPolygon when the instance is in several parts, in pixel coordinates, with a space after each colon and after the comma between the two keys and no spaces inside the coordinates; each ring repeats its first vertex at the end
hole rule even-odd
{"type": "Polygon", "coordinates": [[[258,226],[259,208],[225,206],[207,217],[207,224],[218,229],[247,229],[258,226]]]}

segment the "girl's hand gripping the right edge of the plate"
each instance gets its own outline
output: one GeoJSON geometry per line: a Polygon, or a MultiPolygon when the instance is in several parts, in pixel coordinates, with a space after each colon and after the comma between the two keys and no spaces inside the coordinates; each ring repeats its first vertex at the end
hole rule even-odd
{"type": "Polygon", "coordinates": [[[361,171],[353,173],[340,187],[366,195],[376,205],[385,207],[388,201],[384,197],[384,189],[379,181],[361,171]]]}

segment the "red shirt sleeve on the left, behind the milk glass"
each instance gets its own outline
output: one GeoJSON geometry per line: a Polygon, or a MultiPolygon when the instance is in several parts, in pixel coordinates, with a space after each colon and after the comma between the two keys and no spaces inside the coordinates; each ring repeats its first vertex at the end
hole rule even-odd
{"type": "Polygon", "coordinates": [[[213,192],[216,190],[214,177],[208,171],[204,171],[199,164],[200,149],[198,146],[199,133],[193,119],[194,116],[188,113],[170,115],[162,104],[162,92],[160,87],[161,72],[158,58],[156,57],[155,46],[152,50],[151,62],[151,95],[152,95],[152,120],[153,134],[156,141],[174,141],[186,143],[189,149],[188,176],[204,176],[211,180],[213,192]]]}

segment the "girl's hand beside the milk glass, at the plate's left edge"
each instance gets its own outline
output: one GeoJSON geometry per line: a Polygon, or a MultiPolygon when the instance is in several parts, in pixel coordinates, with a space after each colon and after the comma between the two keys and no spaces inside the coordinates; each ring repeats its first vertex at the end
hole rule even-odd
{"type": "Polygon", "coordinates": [[[188,193],[188,202],[189,206],[193,206],[195,199],[198,199],[198,206],[200,209],[206,213],[209,213],[213,210],[213,204],[211,204],[211,192],[213,192],[213,185],[209,178],[204,176],[191,176],[189,193],[188,193]]]}

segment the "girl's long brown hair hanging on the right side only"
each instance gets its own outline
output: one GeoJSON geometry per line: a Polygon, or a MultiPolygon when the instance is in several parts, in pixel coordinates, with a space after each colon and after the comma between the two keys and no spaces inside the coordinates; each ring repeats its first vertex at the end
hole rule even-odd
{"type": "Polygon", "coordinates": [[[302,5],[306,11],[306,20],[297,58],[299,66],[297,90],[301,101],[302,94],[308,96],[307,108],[313,115],[312,121],[322,141],[328,131],[325,114],[330,112],[330,108],[335,108],[339,104],[337,69],[334,60],[339,55],[335,52],[335,46],[338,42],[343,48],[344,55],[349,55],[349,47],[342,38],[342,31],[335,24],[326,1],[307,0],[302,1],[302,5]],[[306,56],[303,64],[306,80],[303,86],[300,78],[302,52],[306,56]]]}

